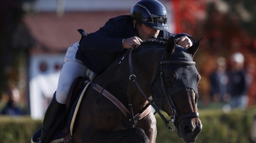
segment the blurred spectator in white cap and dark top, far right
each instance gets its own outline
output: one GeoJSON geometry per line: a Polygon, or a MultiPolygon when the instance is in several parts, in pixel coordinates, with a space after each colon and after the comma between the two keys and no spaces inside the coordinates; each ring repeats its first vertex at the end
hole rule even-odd
{"type": "Polygon", "coordinates": [[[230,105],[232,108],[245,109],[248,103],[248,81],[244,70],[244,55],[236,52],[231,56],[230,80],[228,93],[231,95],[230,105]]]}

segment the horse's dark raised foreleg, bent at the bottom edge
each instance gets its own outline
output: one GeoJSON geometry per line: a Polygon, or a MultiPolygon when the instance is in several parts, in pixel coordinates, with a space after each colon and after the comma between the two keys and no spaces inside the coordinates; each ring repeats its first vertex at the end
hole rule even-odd
{"type": "Polygon", "coordinates": [[[93,136],[93,143],[149,143],[141,128],[130,128],[119,131],[99,130],[93,136]]]}

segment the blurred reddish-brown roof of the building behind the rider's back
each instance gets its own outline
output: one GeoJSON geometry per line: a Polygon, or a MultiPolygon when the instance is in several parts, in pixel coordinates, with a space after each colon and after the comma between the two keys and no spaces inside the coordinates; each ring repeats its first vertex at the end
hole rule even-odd
{"type": "Polygon", "coordinates": [[[36,52],[66,51],[73,43],[80,40],[77,29],[92,33],[102,27],[110,18],[128,15],[129,12],[70,12],[63,16],[56,13],[39,13],[26,15],[24,23],[37,45],[32,48],[36,52]]]}

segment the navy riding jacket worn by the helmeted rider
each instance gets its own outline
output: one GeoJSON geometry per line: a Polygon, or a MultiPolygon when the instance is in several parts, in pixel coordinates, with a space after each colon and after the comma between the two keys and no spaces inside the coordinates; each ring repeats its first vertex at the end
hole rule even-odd
{"type": "MultiPolygon", "coordinates": [[[[171,34],[167,31],[160,31],[158,37],[174,36],[176,39],[184,35],[195,43],[195,39],[185,33],[171,34]]],[[[98,31],[90,33],[80,40],[76,59],[83,62],[90,70],[100,73],[122,52],[123,38],[127,39],[133,36],[135,34],[130,15],[111,18],[98,31]]]]}

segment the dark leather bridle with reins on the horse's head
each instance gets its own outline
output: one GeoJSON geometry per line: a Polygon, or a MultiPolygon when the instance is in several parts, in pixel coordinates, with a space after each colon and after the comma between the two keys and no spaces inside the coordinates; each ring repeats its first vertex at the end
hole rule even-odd
{"type": "MultiPolygon", "coordinates": [[[[134,48],[134,47],[133,47],[134,48]]],[[[169,117],[169,120],[167,120],[163,114],[161,114],[160,112],[160,108],[158,108],[156,106],[156,104],[154,102],[152,102],[148,97],[147,95],[145,94],[145,92],[142,90],[142,88],[140,87],[138,81],[136,80],[136,76],[134,74],[134,71],[133,71],[133,65],[132,65],[132,51],[133,51],[133,48],[132,50],[130,50],[129,52],[129,67],[130,67],[130,72],[131,72],[131,75],[130,75],[130,80],[133,80],[135,82],[135,84],[137,85],[137,87],[139,88],[140,92],[142,93],[142,95],[144,95],[144,97],[147,99],[147,101],[151,104],[151,106],[154,108],[155,110],[155,113],[158,113],[159,116],[162,118],[162,120],[164,121],[164,123],[166,124],[166,127],[170,130],[170,131],[173,131],[175,130],[175,126],[178,124],[179,120],[181,119],[184,119],[184,118],[195,118],[195,117],[199,117],[199,113],[198,112],[191,112],[191,113],[187,113],[187,114],[184,114],[184,115],[181,115],[181,116],[178,116],[178,113],[177,113],[177,110],[175,108],[175,105],[173,104],[172,102],[172,99],[171,97],[169,96],[169,93],[168,93],[168,90],[167,90],[167,87],[166,87],[166,84],[164,84],[164,74],[163,74],[163,64],[184,64],[184,65],[195,65],[196,63],[194,61],[182,61],[182,60],[165,60],[164,61],[164,56],[165,56],[165,52],[163,53],[162,57],[161,57],[161,61],[160,61],[160,66],[151,82],[151,85],[153,83],[153,81],[156,79],[157,75],[159,74],[160,72],[160,78],[161,78],[161,84],[162,84],[162,87],[163,87],[163,90],[164,90],[164,95],[165,95],[165,98],[168,102],[168,105],[169,107],[171,108],[172,110],[172,113],[173,115],[169,117]],[[171,123],[171,121],[173,123],[171,123]],[[173,127],[171,126],[173,125],[173,127]]],[[[151,88],[151,86],[150,86],[151,88]]],[[[198,98],[198,92],[196,93],[196,97],[195,97],[195,102],[197,103],[197,98],[198,98]]]]}

